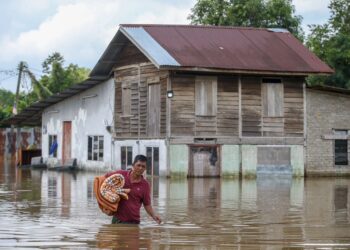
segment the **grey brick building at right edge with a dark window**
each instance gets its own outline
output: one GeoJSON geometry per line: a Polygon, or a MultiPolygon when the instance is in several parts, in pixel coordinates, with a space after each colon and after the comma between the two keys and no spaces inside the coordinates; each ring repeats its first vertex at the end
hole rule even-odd
{"type": "Polygon", "coordinates": [[[306,104],[306,174],[350,175],[350,91],[307,88],[306,104]]]}

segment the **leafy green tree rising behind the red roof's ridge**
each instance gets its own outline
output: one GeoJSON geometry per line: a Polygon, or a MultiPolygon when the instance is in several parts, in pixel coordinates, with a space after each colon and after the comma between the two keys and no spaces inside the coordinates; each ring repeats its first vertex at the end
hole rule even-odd
{"type": "Polygon", "coordinates": [[[188,18],[192,24],[285,28],[304,38],[291,0],[198,0],[188,18]]]}

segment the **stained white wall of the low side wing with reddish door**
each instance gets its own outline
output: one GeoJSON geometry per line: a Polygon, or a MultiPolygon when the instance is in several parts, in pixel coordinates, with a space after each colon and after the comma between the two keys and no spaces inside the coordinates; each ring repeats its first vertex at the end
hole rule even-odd
{"type": "Polygon", "coordinates": [[[42,115],[42,156],[44,159],[48,162],[55,160],[49,158],[48,138],[50,134],[57,135],[57,160],[62,159],[63,122],[71,121],[71,154],[72,158],[77,159],[79,168],[111,169],[111,166],[114,165],[112,136],[106,130],[106,126],[113,127],[114,92],[114,81],[109,79],[45,109],[42,115]],[[92,95],[97,96],[86,98],[92,95]],[[104,136],[103,162],[87,160],[89,135],[104,136]]]}

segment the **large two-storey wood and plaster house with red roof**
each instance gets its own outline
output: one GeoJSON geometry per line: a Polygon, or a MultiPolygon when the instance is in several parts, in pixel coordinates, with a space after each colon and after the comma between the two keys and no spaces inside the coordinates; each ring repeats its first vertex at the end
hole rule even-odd
{"type": "Polygon", "coordinates": [[[121,25],[88,80],[37,104],[43,157],[127,169],[141,153],[150,175],[303,176],[305,77],[332,72],[281,29],[121,25]]]}

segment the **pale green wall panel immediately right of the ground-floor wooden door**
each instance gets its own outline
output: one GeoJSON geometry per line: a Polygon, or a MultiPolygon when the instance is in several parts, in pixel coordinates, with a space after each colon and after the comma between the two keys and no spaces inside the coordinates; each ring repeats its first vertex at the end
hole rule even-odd
{"type": "Polygon", "coordinates": [[[221,150],[221,177],[238,177],[240,165],[239,146],[223,145],[221,150]]]}

